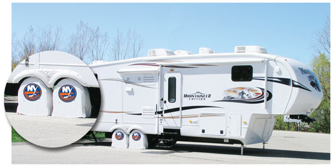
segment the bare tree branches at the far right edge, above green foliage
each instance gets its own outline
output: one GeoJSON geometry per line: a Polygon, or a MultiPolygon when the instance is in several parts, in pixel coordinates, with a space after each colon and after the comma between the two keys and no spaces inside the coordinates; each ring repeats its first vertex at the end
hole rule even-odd
{"type": "Polygon", "coordinates": [[[315,32],[315,43],[311,44],[311,48],[317,53],[317,55],[326,53],[326,55],[330,57],[330,28],[330,17],[327,17],[324,28],[315,32]]]}

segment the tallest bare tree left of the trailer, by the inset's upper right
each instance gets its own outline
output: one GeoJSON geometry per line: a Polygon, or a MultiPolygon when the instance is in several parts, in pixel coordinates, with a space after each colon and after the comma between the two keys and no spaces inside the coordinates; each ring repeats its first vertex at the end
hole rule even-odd
{"type": "Polygon", "coordinates": [[[86,62],[86,55],[89,53],[89,31],[90,28],[88,24],[84,24],[80,21],[80,24],[76,26],[76,32],[71,35],[68,40],[66,51],[75,55],[76,57],[82,59],[86,62]]]}

